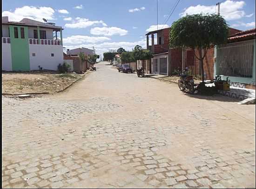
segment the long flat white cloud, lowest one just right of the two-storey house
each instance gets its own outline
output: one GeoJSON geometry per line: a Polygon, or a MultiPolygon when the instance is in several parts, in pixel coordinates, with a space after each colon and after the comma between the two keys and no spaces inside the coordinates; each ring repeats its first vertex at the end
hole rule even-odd
{"type": "Polygon", "coordinates": [[[108,41],[108,37],[90,37],[86,35],[73,35],[67,38],[63,38],[63,43],[68,44],[81,44],[81,43],[99,43],[103,41],[108,41]]]}

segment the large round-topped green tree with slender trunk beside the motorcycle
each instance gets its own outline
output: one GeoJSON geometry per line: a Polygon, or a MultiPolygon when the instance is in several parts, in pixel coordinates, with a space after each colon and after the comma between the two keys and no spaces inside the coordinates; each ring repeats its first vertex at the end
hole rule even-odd
{"type": "Polygon", "coordinates": [[[187,47],[194,51],[200,61],[201,78],[204,81],[203,59],[211,46],[227,42],[229,28],[222,16],[217,14],[193,14],[175,21],[170,30],[170,47],[187,47]],[[199,57],[195,51],[198,52],[199,57]]]}

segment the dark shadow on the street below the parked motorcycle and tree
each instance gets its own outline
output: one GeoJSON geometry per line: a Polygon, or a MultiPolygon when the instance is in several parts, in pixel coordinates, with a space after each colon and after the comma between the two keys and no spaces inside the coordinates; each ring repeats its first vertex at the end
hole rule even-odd
{"type": "Polygon", "coordinates": [[[241,99],[231,98],[231,97],[223,96],[221,94],[201,95],[201,94],[189,94],[189,93],[183,92],[183,95],[186,95],[186,96],[188,96],[190,98],[212,100],[212,101],[220,101],[220,102],[240,102],[240,101],[242,101],[241,99]]]}

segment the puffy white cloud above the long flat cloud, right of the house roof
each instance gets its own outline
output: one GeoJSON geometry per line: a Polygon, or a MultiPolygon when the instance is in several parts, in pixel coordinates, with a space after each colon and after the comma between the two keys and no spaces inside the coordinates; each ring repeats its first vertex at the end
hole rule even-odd
{"type": "Polygon", "coordinates": [[[71,24],[65,24],[65,27],[69,27],[69,28],[86,28],[86,27],[89,27],[89,26],[93,26],[95,24],[101,24],[103,26],[107,26],[102,20],[91,21],[89,19],[84,19],[84,18],[80,18],[80,17],[76,17],[75,20],[76,21],[74,21],[71,24]]]}

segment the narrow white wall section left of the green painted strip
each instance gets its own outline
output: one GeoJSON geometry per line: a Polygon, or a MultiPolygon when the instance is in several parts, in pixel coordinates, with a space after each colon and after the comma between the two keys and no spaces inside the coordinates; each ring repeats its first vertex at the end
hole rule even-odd
{"type": "Polygon", "coordinates": [[[2,43],[2,70],[12,71],[12,54],[10,43],[2,43]]]}

